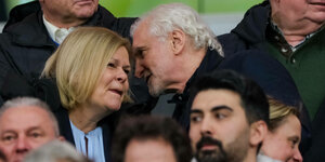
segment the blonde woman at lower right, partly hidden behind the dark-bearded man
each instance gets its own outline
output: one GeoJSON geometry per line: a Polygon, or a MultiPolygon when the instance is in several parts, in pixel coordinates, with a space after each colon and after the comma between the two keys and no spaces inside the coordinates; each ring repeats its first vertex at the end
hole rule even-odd
{"type": "Polygon", "coordinates": [[[299,111],[272,97],[269,97],[269,132],[258,162],[302,162],[298,148],[301,138],[299,111]]]}

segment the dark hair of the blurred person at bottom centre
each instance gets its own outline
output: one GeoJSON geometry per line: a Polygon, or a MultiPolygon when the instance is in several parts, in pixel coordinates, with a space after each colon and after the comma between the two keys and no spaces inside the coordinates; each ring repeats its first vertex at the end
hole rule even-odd
{"type": "Polygon", "coordinates": [[[120,121],[113,138],[113,161],[125,161],[126,148],[132,139],[159,138],[170,144],[177,162],[191,161],[191,141],[186,132],[171,118],[155,116],[128,117],[120,121]]]}

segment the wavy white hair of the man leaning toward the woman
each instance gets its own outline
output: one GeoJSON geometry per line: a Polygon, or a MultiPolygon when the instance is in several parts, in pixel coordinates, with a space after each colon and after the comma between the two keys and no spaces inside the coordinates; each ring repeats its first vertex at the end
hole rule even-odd
{"type": "Polygon", "coordinates": [[[196,49],[216,49],[223,56],[221,44],[216,35],[206,23],[199,17],[198,13],[191,6],[182,3],[161,4],[145,15],[141,16],[131,26],[131,36],[141,22],[150,19],[150,33],[164,39],[174,29],[181,29],[190,36],[196,49]]]}

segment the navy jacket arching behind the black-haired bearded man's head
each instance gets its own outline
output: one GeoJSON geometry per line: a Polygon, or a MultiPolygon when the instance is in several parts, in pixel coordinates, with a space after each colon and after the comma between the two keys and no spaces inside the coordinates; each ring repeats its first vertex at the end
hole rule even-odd
{"type": "MultiPolygon", "coordinates": [[[[220,69],[235,70],[256,81],[266,95],[300,109],[303,138],[310,138],[311,123],[290,73],[268,53],[260,50],[237,52],[220,65],[220,69]]],[[[307,143],[307,140],[303,140],[307,143]]],[[[307,144],[304,144],[307,145],[307,144]]]]}

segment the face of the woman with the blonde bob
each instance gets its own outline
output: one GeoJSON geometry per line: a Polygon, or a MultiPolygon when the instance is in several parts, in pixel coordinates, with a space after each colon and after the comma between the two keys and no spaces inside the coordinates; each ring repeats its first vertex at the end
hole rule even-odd
{"type": "Polygon", "coordinates": [[[129,90],[128,73],[130,70],[129,53],[126,48],[121,46],[113,55],[100,77],[89,104],[101,108],[103,112],[119,110],[129,90]],[[102,109],[103,107],[105,109],[102,109]]]}

